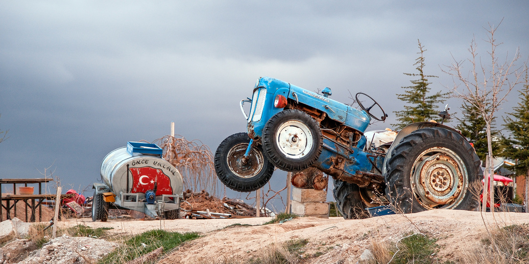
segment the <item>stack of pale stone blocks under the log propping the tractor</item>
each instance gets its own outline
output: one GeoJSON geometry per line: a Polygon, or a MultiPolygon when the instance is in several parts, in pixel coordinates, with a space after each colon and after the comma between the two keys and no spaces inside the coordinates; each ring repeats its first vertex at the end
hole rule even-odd
{"type": "Polygon", "coordinates": [[[327,191],[293,187],[290,210],[293,214],[329,218],[327,191]]]}

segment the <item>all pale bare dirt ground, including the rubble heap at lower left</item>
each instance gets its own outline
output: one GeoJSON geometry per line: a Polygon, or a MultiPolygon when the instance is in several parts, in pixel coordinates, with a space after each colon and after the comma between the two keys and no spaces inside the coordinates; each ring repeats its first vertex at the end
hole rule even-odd
{"type": "MultiPolygon", "coordinates": [[[[373,243],[397,241],[407,233],[421,232],[437,239],[444,260],[460,262],[479,247],[487,230],[511,224],[529,224],[526,213],[480,213],[435,210],[408,215],[377,216],[362,220],[302,217],[280,224],[262,225],[271,218],[177,219],[138,221],[117,215],[107,222],[72,218],[58,227],[87,225],[110,227],[109,236],[134,235],[152,229],[198,232],[203,236],[165,252],[158,263],[247,263],[263,252],[296,239],[307,239],[303,263],[357,263],[373,243]],[[317,256],[317,257],[315,257],[317,256]]],[[[58,237],[37,249],[28,240],[14,240],[0,248],[0,263],[95,263],[117,244],[103,239],[58,237]]]]}

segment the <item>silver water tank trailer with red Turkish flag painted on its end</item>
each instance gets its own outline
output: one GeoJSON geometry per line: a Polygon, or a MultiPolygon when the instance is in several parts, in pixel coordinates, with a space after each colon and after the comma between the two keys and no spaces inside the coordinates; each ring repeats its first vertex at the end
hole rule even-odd
{"type": "Polygon", "coordinates": [[[151,218],[178,218],[183,179],[156,144],[127,142],[113,150],[103,159],[101,178],[93,185],[93,221],[106,221],[111,203],[151,218]]]}

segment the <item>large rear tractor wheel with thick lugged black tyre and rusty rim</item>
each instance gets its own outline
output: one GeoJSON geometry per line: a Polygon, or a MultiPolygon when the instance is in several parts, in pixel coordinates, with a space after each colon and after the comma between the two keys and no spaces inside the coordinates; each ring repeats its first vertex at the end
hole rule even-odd
{"type": "Polygon", "coordinates": [[[483,176],[480,164],[459,133],[418,129],[400,141],[387,161],[386,195],[399,213],[474,210],[483,176]]]}

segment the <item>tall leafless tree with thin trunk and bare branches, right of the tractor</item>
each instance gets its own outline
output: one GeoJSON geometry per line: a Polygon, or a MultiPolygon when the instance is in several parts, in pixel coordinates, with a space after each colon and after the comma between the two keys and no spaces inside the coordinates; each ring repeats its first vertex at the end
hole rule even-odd
{"type": "MultiPolygon", "coordinates": [[[[503,20],[502,20],[503,21],[503,20]]],[[[501,24],[498,24],[498,26],[501,24]]],[[[494,172],[492,171],[492,138],[491,138],[491,124],[494,120],[494,115],[500,109],[501,103],[509,92],[518,84],[522,74],[522,67],[516,67],[516,61],[520,58],[518,49],[516,50],[512,59],[508,59],[508,53],[505,56],[505,61],[498,59],[496,48],[503,43],[497,43],[494,34],[498,26],[489,23],[488,40],[490,50],[487,51],[489,55],[489,64],[482,63],[481,57],[478,56],[476,39],[470,42],[471,58],[463,61],[457,61],[453,58],[453,63],[446,66],[448,70],[442,70],[452,76],[454,86],[451,88],[452,96],[461,98],[467,101],[471,106],[475,107],[477,114],[481,115],[486,122],[488,155],[485,162],[485,186],[483,191],[483,207],[486,210],[487,199],[489,197],[490,211],[494,211],[494,189],[492,183],[494,181],[494,172]],[[469,62],[471,69],[468,72],[463,70],[464,62],[469,62]],[[487,181],[487,175],[490,175],[487,181]],[[488,195],[490,193],[490,195],[488,195]]]]}

